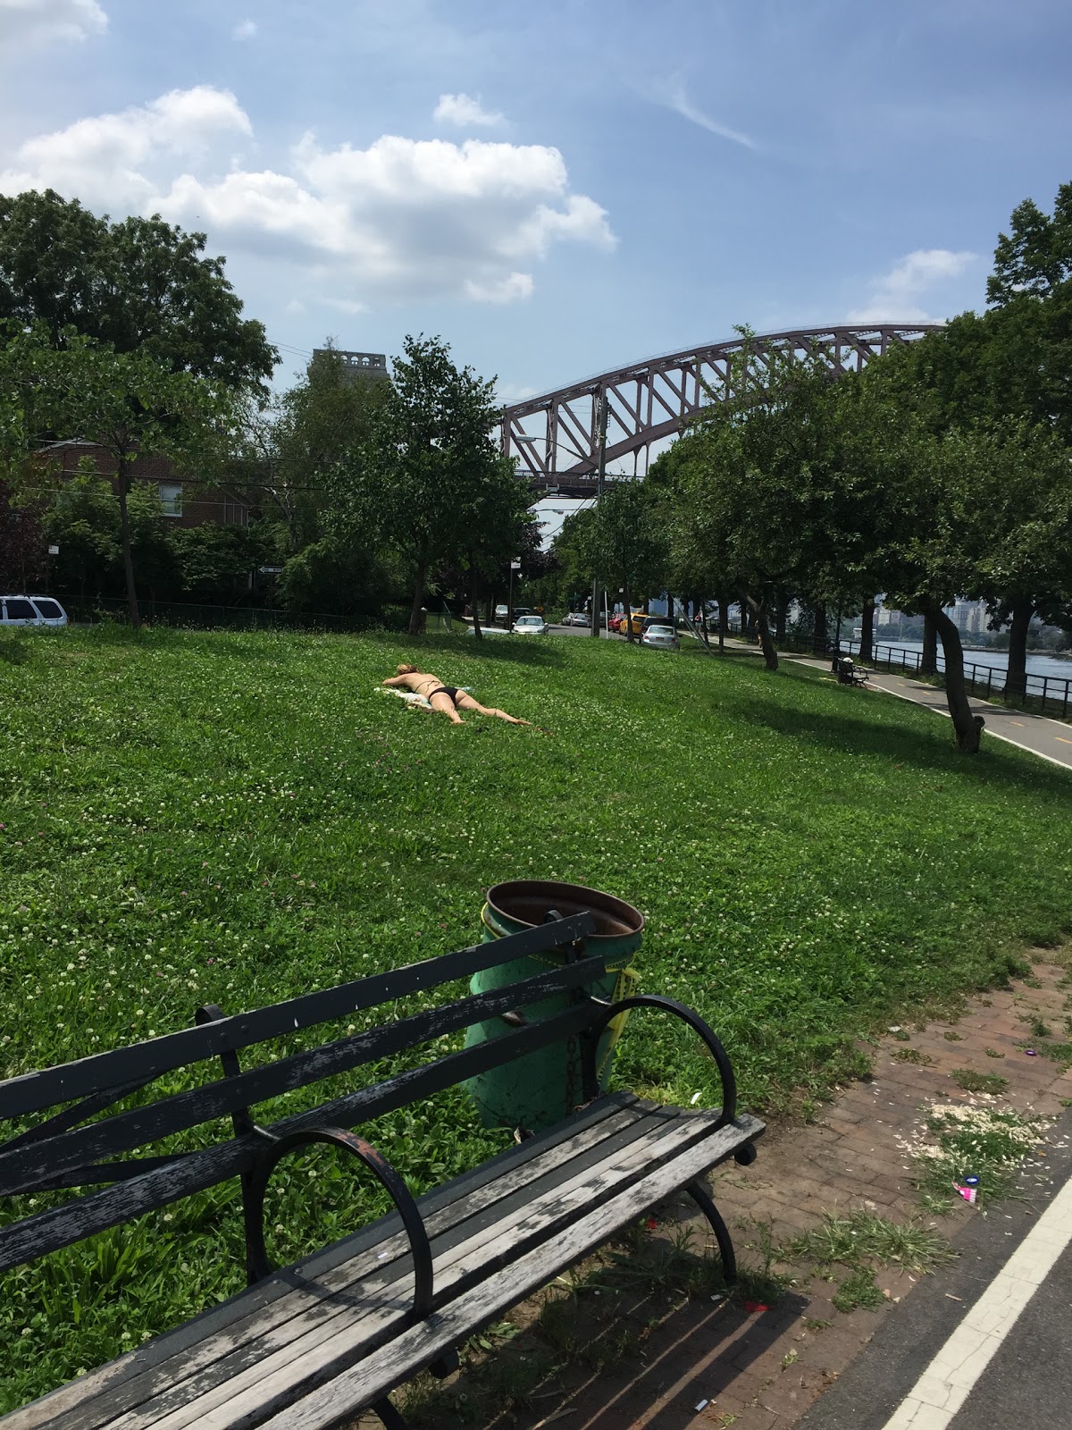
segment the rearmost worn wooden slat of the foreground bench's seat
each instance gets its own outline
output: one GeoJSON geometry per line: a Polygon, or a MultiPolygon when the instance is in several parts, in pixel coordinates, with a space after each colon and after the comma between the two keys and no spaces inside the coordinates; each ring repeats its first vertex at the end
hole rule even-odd
{"type": "MultiPolygon", "coordinates": [[[[606,1143],[623,1127],[635,1128],[636,1104],[637,1098],[632,1094],[613,1094],[547,1134],[509,1148],[486,1163],[479,1173],[463,1173],[422,1197],[420,1207],[429,1237],[439,1238],[442,1244],[442,1237],[453,1233],[459,1223],[459,1207],[467,1214],[479,1211],[499,1197],[523,1191],[536,1178],[546,1177],[547,1171],[570,1163],[582,1151],[590,1151],[593,1144],[606,1143]]],[[[237,1344],[289,1320],[294,1311],[282,1303],[292,1298],[296,1284],[316,1281],[326,1291],[340,1291],[377,1268],[380,1251],[387,1251],[392,1266],[407,1261],[405,1233],[399,1230],[384,1234],[392,1224],[397,1226],[396,1216],[380,1218],[346,1241],[297,1261],[287,1268],[286,1280],[273,1276],[89,1376],[60,1386],[31,1406],[13,1411],[3,1420],[4,1430],[33,1430],[40,1424],[49,1424],[54,1430],[73,1430],[64,1414],[74,1407],[80,1410],[80,1426],[96,1426],[140,1404],[154,1393],[157,1384],[193,1374],[200,1366],[210,1363],[216,1356],[213,1338],[220,1331],[233,1336],[237,1344]]]]}

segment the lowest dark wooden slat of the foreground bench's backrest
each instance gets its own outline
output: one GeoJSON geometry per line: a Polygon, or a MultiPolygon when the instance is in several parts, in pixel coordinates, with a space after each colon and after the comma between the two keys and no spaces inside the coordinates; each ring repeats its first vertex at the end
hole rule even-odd
{"type": "MultiPolygon", "coordinates": [[[[354,1127],[360,1121],[406,1107],[420,1097],[453,1087],[512,1058],[525,1057],[572,1032],[580,1032],[587,1021],[589,1011],[585,1005],[569,1008],[543,1022],[510,1030],[502,1038],[450,1052],[429,1067],[410,1068],[380,1084],[310,1108],[307,1113],[294,1113],[274,1123],[270,1131],[284,1135],[310,1127],[354,1127]]],[[[262,1138],[256,1135],[237,1137],[204,1151],[190,1153],[183,1161],[170,1167],[144,1173],[106,1191],[91,1193],[26,1221],[3,1227],[0,1271],[56,1251],[71,1241],[80,1241],[94,1231],[130,1221],[144,1211],[159,1210],[192,1191],[203,1191],[227,1177],[250,1171],[262,1155],[263,1145],[262,1138]]]]}

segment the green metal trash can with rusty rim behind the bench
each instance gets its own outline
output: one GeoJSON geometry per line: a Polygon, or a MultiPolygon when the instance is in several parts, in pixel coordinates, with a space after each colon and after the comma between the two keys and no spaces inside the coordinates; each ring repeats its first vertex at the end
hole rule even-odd
{"type": "MultiPolygon", "coordinates": [[[[590,985],[589,992],[597,998],[623,998],[635,981],[636,971],[632,958],[643,937],[643,914],[630,904],[603,894],[600,889],[583,888],[580,884],[559,884],[553,879],[512,879],[496,884],[487,891],[487,902],[480,911],[483,942],[519,934],[525,928],[542,924],[555,909],[563,918],[570,914],[592,914],[596,932],[589,935],[586,945],[590,952],[602,954],[606,962],[606,977],[590,985]]],[[[487,992],[519,978],[532,978],[553,967],[560,954],[536,954],[516,958],[475,974],[470,984],[473,992],[487,992]]],[[[570,1007],[569,994],[556,994],[542,1002],[526,1007],[529,1022],[539,1022],[570,1007]]],[[[617,1041],[627,1012],[615,1018],[603,1034],[596,1054],[599,1085],[606,1087],[610,1075],[613,1047],[617,1041]]],[[[476,1022],[466,1032],[466,1047],[489,1038],[500,1038],[510,1031],[502,1018],[476,1022]]],[[[553,1127],[575,1110],[582,1101],[582,1068],[579,1040],[556,1041],[536,1048],[525,1057],[515,1058],[502,1067],[490,1068],[466,1083],[469,1095],[477,1105],[485,1127],[523,1127],[539,1131],[553,1127]]]]}

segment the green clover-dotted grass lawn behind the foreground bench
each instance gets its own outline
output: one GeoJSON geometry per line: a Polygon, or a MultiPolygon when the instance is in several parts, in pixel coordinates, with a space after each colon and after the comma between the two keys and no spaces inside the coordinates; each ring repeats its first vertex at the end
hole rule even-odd
{"type": "MultiPolygon", "coordinates": [[[[779,1110],[856,1070],[860,1034],[1072,931],[1072,775],[986,736],[958,756],[926,711],[750,656],[104,626],[4,641],[0,722],[6,1075],[460,947],[482,889],[530,877],[636,904],[643,987],[709,1018],[743,1104],[779,1110]],[[410,656],[553,734],[374,694],[410,656]]],[[[620,1050],[632,1085],[708,1100],[660,1018],[620,1050]]],[[[423,1187],[505,1134],[453,1094],[369,1135],[423,1187]]],[[[310,1154],[276,1254],[360,1204],[310,1154]]],[[[7,1273],[0,1410],[236,1290],[236,1205],[7,1273]]]]}

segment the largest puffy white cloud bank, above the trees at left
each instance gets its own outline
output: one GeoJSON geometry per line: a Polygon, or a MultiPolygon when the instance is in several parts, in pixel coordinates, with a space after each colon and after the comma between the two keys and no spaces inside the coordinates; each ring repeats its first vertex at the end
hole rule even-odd
{"type": "Polygon", "coordinates": [[[213,245],[297,270],[299,296],[360,312],[376,299],[509,303],[557,243],[610,249],[606,212],[570,193],[557,149],[383,134],[366,149],[306,134],[276,167],[243,167],[236,97],[199,86],[29,140],[0,193],[51,186],[113,213],[159,212],[213,245]]]}

